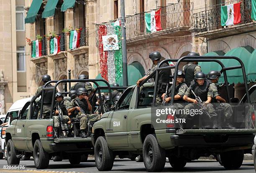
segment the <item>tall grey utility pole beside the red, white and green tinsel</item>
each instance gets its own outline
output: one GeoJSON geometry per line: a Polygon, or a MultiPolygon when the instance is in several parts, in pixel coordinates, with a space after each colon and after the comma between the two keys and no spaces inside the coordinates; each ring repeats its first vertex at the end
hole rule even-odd
{"type": "Polygon", "coordinates": [[[125,2],[120,0],[120,13],[121,13],[121,39],[122,39],[122,55],[123,55],[123,86],[128,86],[127,75],[127,51],[126,51],[126,31],[125,31],[125,2]]]}

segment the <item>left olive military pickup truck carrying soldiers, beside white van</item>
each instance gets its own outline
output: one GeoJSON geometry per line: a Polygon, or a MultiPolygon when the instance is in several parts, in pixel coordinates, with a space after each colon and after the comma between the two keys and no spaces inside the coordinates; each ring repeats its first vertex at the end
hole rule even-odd
{"type": "MultiPolygon", "coordinates": [[[[56,83],[54,87],[43,87],[40,93],[25,104],[18,114],[17,120],[13,120],[11,125],[5,130],[8,165],[19,164],[20,158],[23,155],[32,155],[36,168],[44,169],[48,167],[49,159],[52,156],[68,158],[71,164],[79,164],[81,155],[88,156],[88,154],[93,154],[94,148],[91,137],[76,137],[74,130],[74,137],[62,135],[62,137],[57,138],[56,135],[54,135],[54,121],[51,115],[53,114],[56,87],[59,84],[69,82],[93,82],[97,86],[95,93],[100,93],[100,86],[97,84],[98,81],[105,83],[110,91],[108,82],[101,79],[49,81],[48,83],[56,83]],[[51,103],[52,109],[50,117],[43,119],[44,93],[47,90],[54,90],[51,103]],[[38,116],[38,113],[40,116],[38,116]]],[[[47,84],[45,86],[47,86],[47,84]]],[[[64,92],[63,94],[67,93],[68,92],[64,92]]],[[[94,95],[91,98],[93,97],[94,95]]],[[[103,108],[102,103],[100,104],[103,108]]]]}

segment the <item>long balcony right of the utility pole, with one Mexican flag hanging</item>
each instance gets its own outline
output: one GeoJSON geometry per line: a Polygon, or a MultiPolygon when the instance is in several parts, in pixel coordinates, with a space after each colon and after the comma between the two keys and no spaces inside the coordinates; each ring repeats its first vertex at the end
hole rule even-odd
{"type": "MultiPolygon", "coordinates": [[[[146,32],[145,13],[158,11],[160,8],[126,17],[127,44],[133,45],[135,42],[136,44],[144,43],[146,39],[149,41],[162,39],[159,36],[184,36],[191,34],[189,28],[193,25],[193,5],[194,3],[175,3],[161,7],[162,30],[153,33],[146,32]]],[[[103,23],[101,25],[110,25],[110,23],[103,23]]],[[[96,26],[96,32],[99,26],[96,26]]],[[[96,38],[96,44],[98,45],[98,38],[96,38]]]]}

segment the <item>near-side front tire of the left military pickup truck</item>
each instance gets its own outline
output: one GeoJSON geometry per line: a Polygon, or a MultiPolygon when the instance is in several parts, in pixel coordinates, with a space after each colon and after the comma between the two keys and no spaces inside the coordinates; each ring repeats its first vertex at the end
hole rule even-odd
{"type": "Polygon", "coordinates": [[[18,165],[20,163],[20,158],[16,157],[17,150],[15,150],[12,140],[8,140],[8,143],[6,146],[6,153],[7,153],[8,165],[18,165]]]}

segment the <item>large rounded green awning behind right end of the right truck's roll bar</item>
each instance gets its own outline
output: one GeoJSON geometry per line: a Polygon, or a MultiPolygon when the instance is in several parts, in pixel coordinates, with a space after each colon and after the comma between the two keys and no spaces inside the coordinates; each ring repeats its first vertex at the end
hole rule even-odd
{"type": "MultiPolygon", "coordinates": [[[[243,61],[243,64],[245,66],[246,73],[247,73],[249,59],[250,59],[251,53],[253,51],[254,51],[254,49],[251,46],[238,47],[238,48],[234,48],[234,49],[228,51],[225,54],[225,56],[236,56],[239,59],[241,59],[243,61]]],[[[240,63],[234,59],[223,59],[223,60],[221,60],[221,62],[224,64],[225,67],[240,65],[240,63]]],[[[244,82],[241,69],[228,70],[227,76],[228,76],[229,84],[233,84],[233,83],[234,84],[238,84],[238,83],[242,84],[244,82]]],[[[221,84],[224,83],[223,75],[220,76],[219,83],[221,83],[221,84]]]]}

